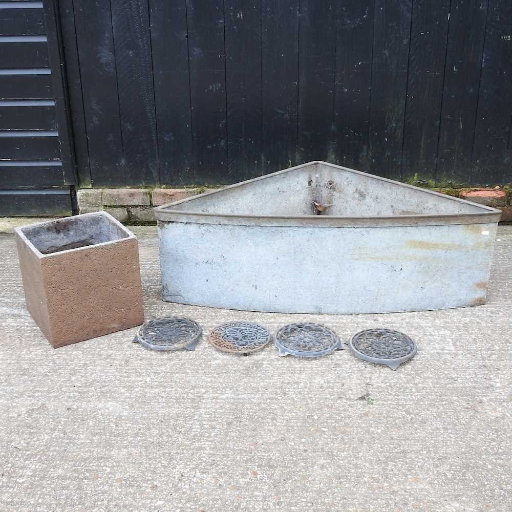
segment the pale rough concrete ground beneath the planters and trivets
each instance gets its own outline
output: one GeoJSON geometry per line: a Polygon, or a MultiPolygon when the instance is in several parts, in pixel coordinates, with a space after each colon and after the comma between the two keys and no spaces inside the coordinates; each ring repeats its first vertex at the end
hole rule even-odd
{"type": "MultiPolygon", "coordinates": [[[[155,353],[135,329],[54,350],[0,236],[0,510],[510,511],[512,226],[489,303],[388,315],[283,315],[166,304],[155,228],[140,240],[147,318],[208,332],[307,318],[349,337],[387,326],[419,352],[393,372],[347,350],[304,360],[155,353]]],[[[463,276],[461,276],[463,279],[463,276]]]]}

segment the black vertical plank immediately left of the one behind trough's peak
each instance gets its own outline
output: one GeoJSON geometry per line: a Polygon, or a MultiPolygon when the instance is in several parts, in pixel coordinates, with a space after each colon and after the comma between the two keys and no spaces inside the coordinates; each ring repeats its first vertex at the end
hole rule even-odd
{"type": "Polygon", "coordinates": [[[298,0],[262,0],[263,173],[296,164],[298,0]]]}

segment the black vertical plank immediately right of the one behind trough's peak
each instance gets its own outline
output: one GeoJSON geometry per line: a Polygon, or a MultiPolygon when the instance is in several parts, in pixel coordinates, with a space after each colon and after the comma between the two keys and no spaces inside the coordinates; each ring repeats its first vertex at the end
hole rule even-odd
{"type": "Polygon", "coordinates": [[[336,7],[335,163],[368,170],[375,0],[338,0],[336,7]]]}

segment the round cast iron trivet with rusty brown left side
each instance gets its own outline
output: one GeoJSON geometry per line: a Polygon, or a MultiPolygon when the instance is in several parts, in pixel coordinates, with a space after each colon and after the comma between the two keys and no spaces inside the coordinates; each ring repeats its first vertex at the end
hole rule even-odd
{"type": "Polygon", "coordinates": [[[228,322],[210,333],[210,343],[231,354],[248,354],[261,350],[272,339],[265,327],[252,322],[228,322]]]}

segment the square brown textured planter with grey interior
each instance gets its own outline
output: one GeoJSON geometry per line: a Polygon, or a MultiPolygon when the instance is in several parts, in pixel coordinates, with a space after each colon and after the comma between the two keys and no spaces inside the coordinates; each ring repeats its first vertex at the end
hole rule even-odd
{"type": "Polygon", "coordinates": [[[54,348],[144,321],[135,235],[99,211],[15,229],[27,308],[54,348]]]}

